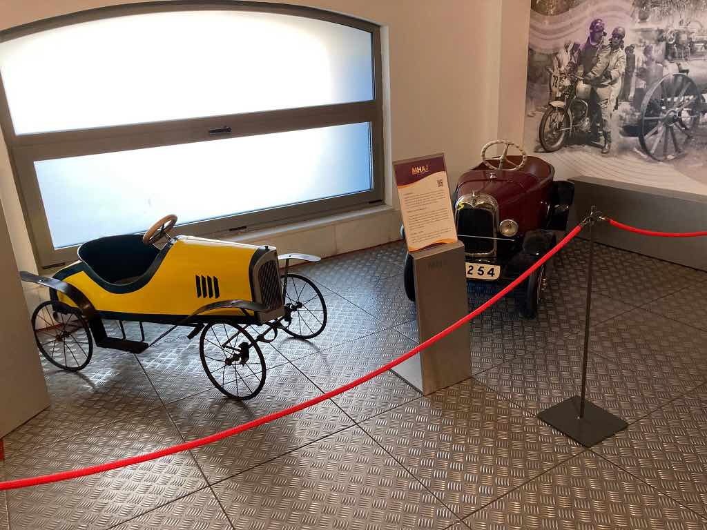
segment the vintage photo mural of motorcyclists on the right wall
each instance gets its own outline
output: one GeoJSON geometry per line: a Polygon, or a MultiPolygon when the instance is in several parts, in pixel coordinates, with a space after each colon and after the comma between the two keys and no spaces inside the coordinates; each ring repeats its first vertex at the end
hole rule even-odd
{"type": "Polygon", "coordinates": [[[564,175],[707,195],[707,0],[532,0],[524,143],[564,175]]]}

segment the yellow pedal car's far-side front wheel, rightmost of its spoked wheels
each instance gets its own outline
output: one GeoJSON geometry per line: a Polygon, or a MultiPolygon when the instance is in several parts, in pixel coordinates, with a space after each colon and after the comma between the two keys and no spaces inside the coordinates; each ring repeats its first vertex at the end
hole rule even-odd
{"type": "Polygon", "coordinates": [[[281,329],[296,338],[314,338],[327,325],[327,304],[322,291],[309,278],[287,273],[281,277],[285,316],[281,329]]]}

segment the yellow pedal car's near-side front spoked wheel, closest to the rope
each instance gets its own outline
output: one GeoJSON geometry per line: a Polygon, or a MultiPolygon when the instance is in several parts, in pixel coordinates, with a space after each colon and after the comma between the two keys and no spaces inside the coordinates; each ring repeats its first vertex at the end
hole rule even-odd
{"type": "Polygon", "coordinates": [[[199,355],[214,387],[235,399],[257,396],[265,384],[265,359],[252,336],[238,325],[215,322],[201,331],[199,355]]]}

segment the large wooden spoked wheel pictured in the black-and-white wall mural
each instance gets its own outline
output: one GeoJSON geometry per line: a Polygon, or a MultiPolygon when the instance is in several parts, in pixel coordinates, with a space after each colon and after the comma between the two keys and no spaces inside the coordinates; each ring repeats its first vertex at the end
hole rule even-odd
{"type": "Polygon", "coordinates": [[[665,76],[643,97],[638,130],[643,151],[660,162],[683,156],[700,134],[703,112],[703,96],[691,78],[684,73],[665,76]]]}

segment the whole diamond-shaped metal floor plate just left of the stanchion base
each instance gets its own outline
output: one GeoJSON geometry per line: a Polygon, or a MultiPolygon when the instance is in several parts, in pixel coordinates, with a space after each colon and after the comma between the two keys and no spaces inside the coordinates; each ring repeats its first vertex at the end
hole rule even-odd
{"type": "Polygon", "coordinates": [[[460,517],[581,450],[473,379],[361,427],[460,517]]]}

